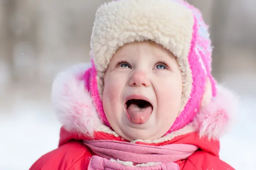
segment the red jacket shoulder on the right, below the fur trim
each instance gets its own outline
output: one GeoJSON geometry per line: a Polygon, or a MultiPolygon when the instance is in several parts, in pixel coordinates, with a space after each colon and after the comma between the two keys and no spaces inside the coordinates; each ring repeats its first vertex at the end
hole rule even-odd
{"type": "Polygon", "coordinates": [[[181,170],[235,170],[218,156],[204,151],[195,152],[180,167],[181,170]]]}

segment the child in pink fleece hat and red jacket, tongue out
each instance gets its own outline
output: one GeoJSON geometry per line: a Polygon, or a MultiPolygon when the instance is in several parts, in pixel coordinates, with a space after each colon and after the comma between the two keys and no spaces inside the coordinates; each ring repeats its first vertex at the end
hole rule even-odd
{"type": "Polygon", "coordinates": [[[59,147],[31,170],[233,170],[218,139],[236,103],[211,53],[200,12],[182,0],[103,4],[91,63],[53,83],[59,147]]]}

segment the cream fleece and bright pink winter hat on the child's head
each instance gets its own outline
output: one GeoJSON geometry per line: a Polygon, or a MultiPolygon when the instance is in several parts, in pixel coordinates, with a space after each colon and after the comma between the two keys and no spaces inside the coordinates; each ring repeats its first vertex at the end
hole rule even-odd
{"type": "MultiPolygon", "coordinates": [[[[104,74],[115,51],[126,43],[144,40],[171,51],[182,72],[182,110],[171,132],[192,121],[202,100],[215,96],[207,26],[201,13],[182,0],[115,0],[103,4],[96,12],[90,42],[100,96],[104,74]]],[[[105,114],[100,116],[109,125],[105,114]]]]}

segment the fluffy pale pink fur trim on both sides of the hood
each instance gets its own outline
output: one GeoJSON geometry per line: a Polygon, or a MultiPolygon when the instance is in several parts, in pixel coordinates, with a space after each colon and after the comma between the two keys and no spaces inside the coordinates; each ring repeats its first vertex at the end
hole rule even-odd
{"type": "MultiPolygon", "coordinates": [[[[58,74],[52,85],[52,103],[61,123],[70,132],[93,136],[93,132],[119,136],[103,125],[96,113],[90,94],[84,90],[84,81],[79,77],[89,65],[78,65],[58,74]]],[[[201,137],[218,139],[229,127],[236,114],[236,97],[228,90],[217,86],[217,96],[206,104],[195,120],[185,127],[156,140],[135,140],[135,142],[160,143],[176,136],[198,131],[201,137]]]]}

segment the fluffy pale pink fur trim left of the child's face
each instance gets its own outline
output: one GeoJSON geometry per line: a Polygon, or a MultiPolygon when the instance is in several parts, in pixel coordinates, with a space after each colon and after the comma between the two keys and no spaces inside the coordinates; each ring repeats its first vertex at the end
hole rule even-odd
{"type": "Polygon", "coordinates": [[[82,80],[89,67],[80,64],[58,74],[52,85],[52,103],[66,130],[93,136],[101,122],[82,80]]]}

